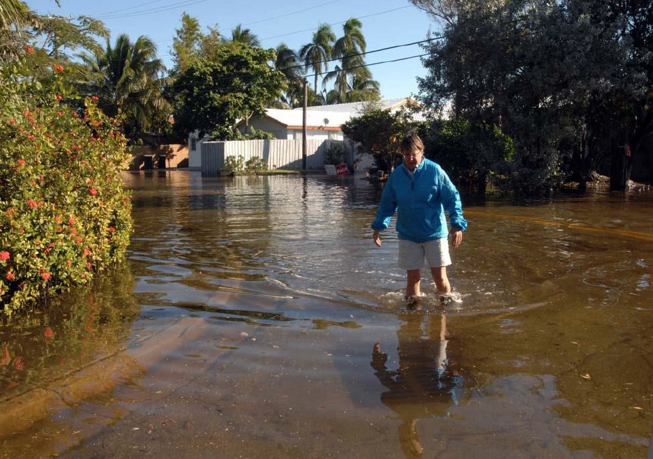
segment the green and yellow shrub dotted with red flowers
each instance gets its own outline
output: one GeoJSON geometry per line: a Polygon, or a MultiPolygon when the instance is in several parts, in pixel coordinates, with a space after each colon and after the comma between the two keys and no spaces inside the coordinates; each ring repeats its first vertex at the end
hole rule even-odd
{"type": "Polygon", "coordinates": [[[6,313],[89,282],[124,257],[132,230],[130,196],[119,176],[128,158],[119,121],[91,98],[83,109],[70,107],[58,100],[60,91],[30,91],[26,84],[0,75],[6,99],[0,100],[0,308],[6,313]]]}

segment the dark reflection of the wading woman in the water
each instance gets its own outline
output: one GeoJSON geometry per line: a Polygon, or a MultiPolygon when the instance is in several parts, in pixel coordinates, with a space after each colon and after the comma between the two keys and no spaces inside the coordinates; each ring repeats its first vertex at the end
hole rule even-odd
{"type": "Polygon", "coordinates": [[[399,366],[386,367],[388,354],[374,345],[370,365],[375,375],[389,390],[381,401],[401,418],[398,428],[401,448],[407,458],[417,458],[423,448],[417,435],[417,419],[445,416],[449,407],[457,405],[456,388],[462,377],[446,354],[446,316],[406,311],[399,315],[403,322],[397,331],[399,366]],[[426,325],[426,330],[423,326],[426,325]]]}

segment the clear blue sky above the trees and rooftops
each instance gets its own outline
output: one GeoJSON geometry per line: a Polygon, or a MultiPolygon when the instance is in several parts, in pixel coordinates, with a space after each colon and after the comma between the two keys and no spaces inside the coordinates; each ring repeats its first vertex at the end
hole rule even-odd
{"type": "MultiPolygon", "coordinates": [[[[132,40],[149,36],[157,45],[159,57],[170,66],[170,48],[174,29],[181,26],[183,12],[197,18],[202,31],[218,24],[224,36],[238,24],[250,29],[264,47],[285,43],[294,50],[310,42],[320,23],[331,25],[336,36],[342,35],[343,23],[357,17],[363,23],[367,41],[366,63],[380,82],[383,98],[407,97],[417,91],[416,77],[425,75],[419,58],[393,61],[423,54],[419,45],[406,45],[428,38],[437,24],[407,0],[27,0],[38,13],[77,17],[87,15],[103,20],[111,31],[112,42],[121,33],[132,40]]],[[[332,68],[333,64],[330,64],[332,68]]]]}

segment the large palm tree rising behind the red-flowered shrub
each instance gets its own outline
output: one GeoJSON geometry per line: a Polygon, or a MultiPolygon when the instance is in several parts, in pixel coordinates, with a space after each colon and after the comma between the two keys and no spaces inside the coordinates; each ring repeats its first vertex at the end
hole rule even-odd
{"type": "Polygon", "coordinates": [[[145,130],[156,115],[170,112],[170,103],[161,93],[167,84],[161,77],[165,67],[149,38],[140,36],[131,43],[123,34],[113,47],[107,40],[103,52],[80,54],[80,58],[86,66],[82,89],[98,96],[107,114],[123,113],[126,133],[145,130]]]}

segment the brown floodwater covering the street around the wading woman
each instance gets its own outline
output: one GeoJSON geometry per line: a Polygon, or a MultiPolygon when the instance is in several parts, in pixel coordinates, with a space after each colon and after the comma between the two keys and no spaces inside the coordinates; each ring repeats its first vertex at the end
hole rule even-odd
{"type": "Polygon", "coordinates": [[[409,310],[361,176],[125,180],[128,262],[0,328],[0,458],[651,457],[652,191],[464,197],[409,310]]]}

